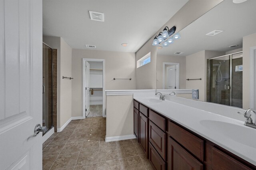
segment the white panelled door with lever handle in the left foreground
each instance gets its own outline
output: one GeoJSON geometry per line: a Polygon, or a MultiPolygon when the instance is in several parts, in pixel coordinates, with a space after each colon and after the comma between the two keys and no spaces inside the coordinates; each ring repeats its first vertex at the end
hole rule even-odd
{"type": "Polygon", "coordinates": [[[0,0],[0,169],[41,170],[42,0],[0,0]]]}

